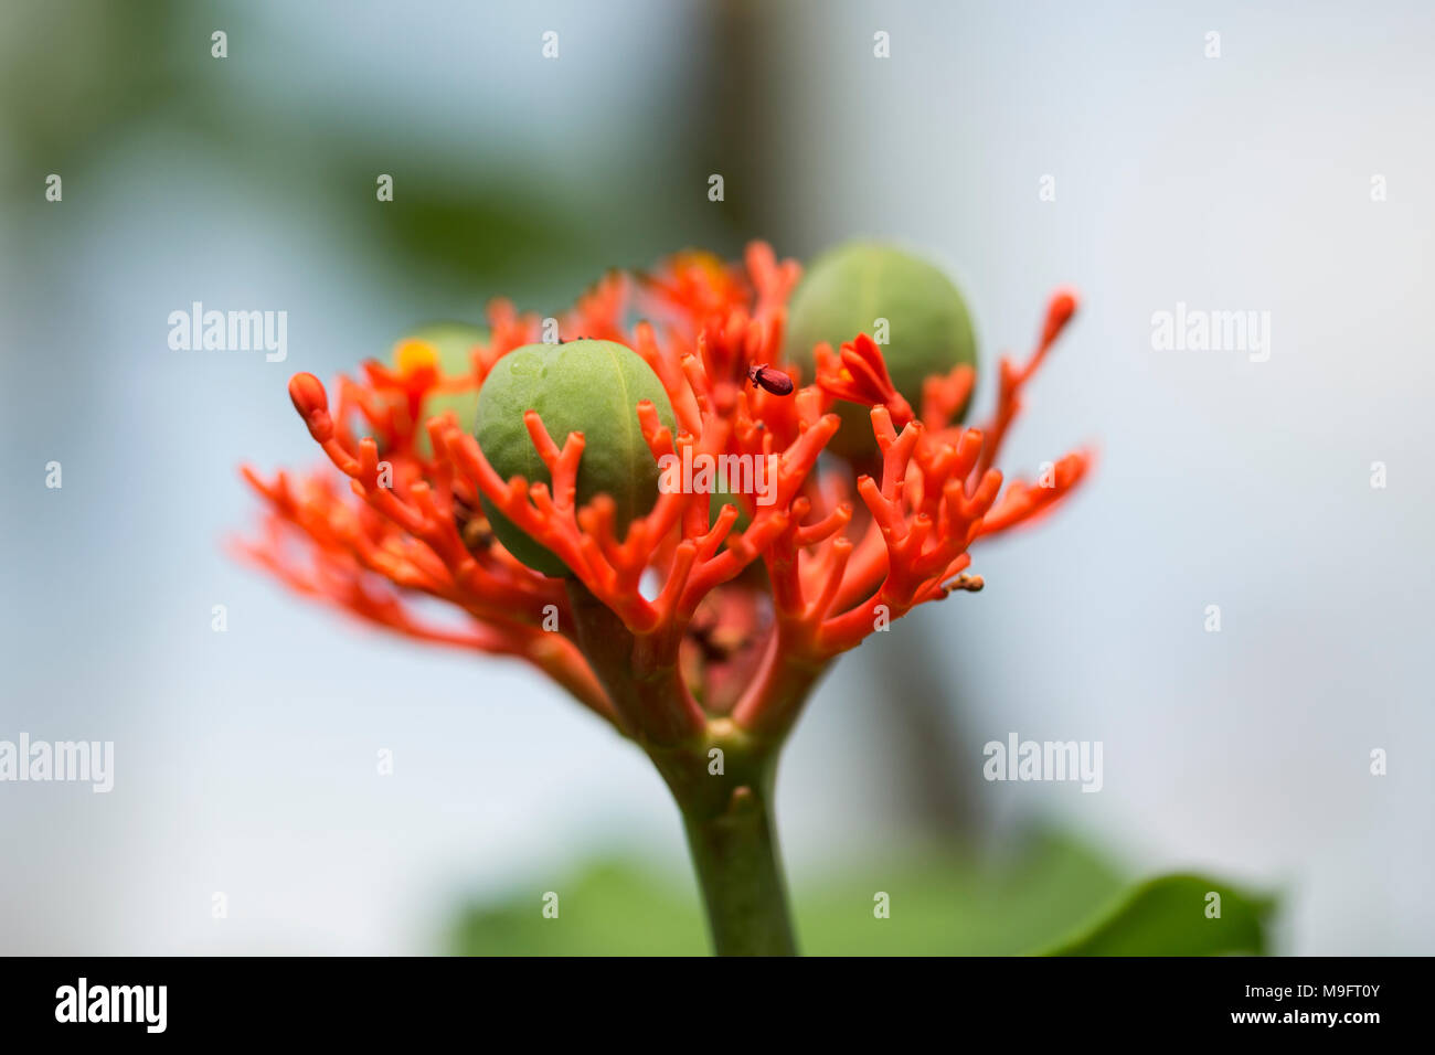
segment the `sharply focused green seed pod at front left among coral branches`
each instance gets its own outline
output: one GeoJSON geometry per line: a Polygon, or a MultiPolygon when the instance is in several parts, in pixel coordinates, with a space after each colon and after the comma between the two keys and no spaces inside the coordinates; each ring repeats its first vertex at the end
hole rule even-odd
{"type": "MultiPolygon", "coordinates": [[[[673,406],[663,383],[643,357],[611,340],[524,344],[494,366],[478,393],[478,445],[504,479],[551,484],[534,449],[524,413],[537,411],[552,441],[570,432],[584,438],[577,502],[613,497],[618,538],[657,502],[659,469],[637,421],[639,400],[651,400],[659,419],[676,433],[673,406]]],[[[568,574],[551,551],[524,534],[485,497],[484,512],[498,541],[545,576],[568,574]]]]}

